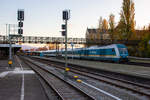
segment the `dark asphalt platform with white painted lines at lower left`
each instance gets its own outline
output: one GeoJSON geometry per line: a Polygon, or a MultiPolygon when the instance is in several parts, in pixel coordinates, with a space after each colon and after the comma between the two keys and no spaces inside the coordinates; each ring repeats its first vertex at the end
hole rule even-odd
{"type": "Polygon", "coordinates": [[[48,100],[36,74],[16,56],[0,60],[0,100],[48,100]]]}

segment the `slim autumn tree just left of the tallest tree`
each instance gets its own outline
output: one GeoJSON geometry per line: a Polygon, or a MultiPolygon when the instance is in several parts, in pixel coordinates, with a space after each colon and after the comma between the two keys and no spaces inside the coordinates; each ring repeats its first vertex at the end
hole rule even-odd
{"type": "Polygon", "coordinates": [[[109,16],[109,34],[110,34],[110,38],[112,39],[112,41],[114,40],[114,35],[115,35],[115,15],[110,14],[109,16]]]}

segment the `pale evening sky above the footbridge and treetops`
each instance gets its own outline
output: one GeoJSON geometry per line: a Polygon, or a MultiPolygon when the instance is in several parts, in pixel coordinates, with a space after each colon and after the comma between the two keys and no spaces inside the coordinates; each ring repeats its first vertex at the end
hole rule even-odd
{"type": "MultiPolygon", "coordinates": [[[[150,23],[150,0],[133,0],[136,28],[150,23]]],[[[6,33],[6,24],[17,25],[17,10],[24,9],[25,36],[61,37],[62,11],[71,10],[68,37],[84,38],[86,29],[97,28],[100,16],[119,21],[123,0],[0,0],[0,35],[6,33]]]]}

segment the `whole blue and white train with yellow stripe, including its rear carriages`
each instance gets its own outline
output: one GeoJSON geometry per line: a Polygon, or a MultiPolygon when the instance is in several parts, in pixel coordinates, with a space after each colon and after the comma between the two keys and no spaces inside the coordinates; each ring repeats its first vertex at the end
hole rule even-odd
{"type": "MultiPolygon", "coordinates": [[[[56,51],[34,51],[27,52],[28,55],[46,56],[46,57],[65,57],[65,50],[56,51]]],[[[67,50],[68,58],[113,61],[113,62],[127,62],[128,50],[123,44],[112,44],[107,46],[94,46],[89,48],[75,48],[67,50]]]]}

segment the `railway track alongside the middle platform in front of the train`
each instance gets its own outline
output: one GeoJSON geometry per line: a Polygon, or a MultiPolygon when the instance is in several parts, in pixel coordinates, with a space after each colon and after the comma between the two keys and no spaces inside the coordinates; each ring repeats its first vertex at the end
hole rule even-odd
{"type": "MultiPolygon", "coordinates": [[[[51,61],[46,61],[46,60],[41,60],[41,59],[36,59],[40,62],[55,66],[57,68],[61,68],[64,69],[64,67],[62,67],[64,64],[60,64],[60,63],[54,63],[51,61]],[[61,66],[61,67],[60,67],[61,66]]],[[[71,71],[80,75],[84,75],[84,76],[88,76],[90,78],[94,78],[96,80],[99,80],[101,82],[105,82],[107,84],[113,85],[113,86],[117,86],[119,88],[123,88],[123,89],[127,89],[130,90],[134,93],[138,93],[140,95],[145,95],[147,97],[150,98],[150,86],[147,84],[140,84],[140,83],[136,83],[134,81],[129,81],[129,80],[125,80],[125,79],[121,79],[121,78],[116,78],[116,77],[112,77],[110,75],[104,75],[104,74],[100,74],[99,72],[95,72],[89,69],[85,69],[85,68],[79,68],[79,66],[72,66],[71,67],[71,71]]],[[[128,76],[129,77],[129,76],[128,76]]],[[[150,80],[149,80],[150,82],[150,80]]]]}

